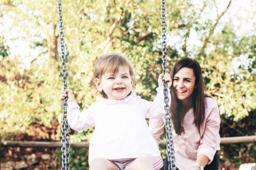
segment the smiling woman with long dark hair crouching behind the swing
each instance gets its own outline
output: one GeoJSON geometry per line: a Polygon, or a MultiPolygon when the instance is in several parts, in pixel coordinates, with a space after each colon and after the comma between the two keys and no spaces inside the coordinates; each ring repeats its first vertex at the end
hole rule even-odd
{"type": "MultiPolygon", "coordinates": [[[[200,65],[193,59],[180,59],[170,76],[176,167],[180,170],[218,169],[220,115],[216,102],[204,92],[200,65]]],[[[157,143],[164,132],[164,122],[164,118],[150,119],[150,131],[157,143]]],[[[167,160],[165,169],[168,169],[167,160]]]]}

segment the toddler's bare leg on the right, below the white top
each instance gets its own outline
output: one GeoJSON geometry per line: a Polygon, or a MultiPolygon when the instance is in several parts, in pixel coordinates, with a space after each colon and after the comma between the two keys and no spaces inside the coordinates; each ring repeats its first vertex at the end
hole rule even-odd
{"type": "Polygon", "coordinates": [[[129,166],[127,170],[154,170],[153,164],[147,157],[138,157],[129,166]]]}

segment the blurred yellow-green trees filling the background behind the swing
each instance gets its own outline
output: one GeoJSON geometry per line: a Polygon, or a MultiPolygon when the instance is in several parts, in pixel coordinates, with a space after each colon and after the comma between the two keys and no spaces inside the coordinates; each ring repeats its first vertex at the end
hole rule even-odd
{"type": "MultiPolygon", "coordinates": [[[[161,2],[68,0],[62,4],[68,88],[77,103],[86,109],[99,96],[93,87],[93,62],[108,52],[131,60],[136,71],[134,90],[152,99],[162,63],[161,2]]],[[[57,5],[53,0],[0,3],[3,139],[26,134],[30,139],[60,140],[58,97],[63,83],[57,5]],[[40,128],[33,131],[32,125],[40,128]]],[[[221,137],[255,135],[255,8],[253,0],[166,1],[168,68],[182,57],[200,62],[207,93],[220,108],[221,137]],[[249,123],[242,123],[248,117],[249,123]]],[[[72,131],[71,141],[87,141],[92,131],[72,131]]]]}

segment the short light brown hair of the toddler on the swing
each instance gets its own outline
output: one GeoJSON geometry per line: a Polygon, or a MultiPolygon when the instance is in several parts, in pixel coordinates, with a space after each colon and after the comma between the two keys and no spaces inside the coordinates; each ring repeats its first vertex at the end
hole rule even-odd
{"type": "MultiPolygon", "coordinates": [[[[131,78],[134,78],[134,72],[132,68],[131,62],[124,56],[119,53],[106,53],[100,56],[99,59],[96,60],[94,69],[93,69],[93,78],[102,78],[102,75],[106,72],[116,73],[120,66],[129,67],[129,73],[131,78]]],[[[104,98],[108,98],[105,92],[102,90],[101,92],[104,98]]]]}

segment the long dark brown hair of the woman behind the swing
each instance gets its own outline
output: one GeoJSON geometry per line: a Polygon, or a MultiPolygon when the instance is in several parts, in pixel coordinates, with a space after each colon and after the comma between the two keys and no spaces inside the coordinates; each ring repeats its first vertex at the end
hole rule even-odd
{"type": "MultiPolygon", "coordinates": [[[[193,102],[193,109],[194,109],[194,124],[198,128],[198,132],[200,133],[200,124],[202,124],[204,117],[205,117],[205,94],[204,94],[204,81],[202,78],[202,69],[199,63],[196,60],[190,58],[183,58],[178,60],[172,70],[170,71],[170,76],[174,78],[174,75],[182,68],[188,67],[193,69],[195,74],[195,89],[193,90],[192,95],[192,102],[193,102]]],[[[183,117],[180,117],[180,110],[182,108],[181,101],[177,98],[175,94],[175,89],[173,88],[173,84],[170,87],[171,93],[171,107],[170,113],[172,114],[172,121],[174,125],[175,132],[177,134],[181,134],[184,132],[183,128],[183,117]]]]}

